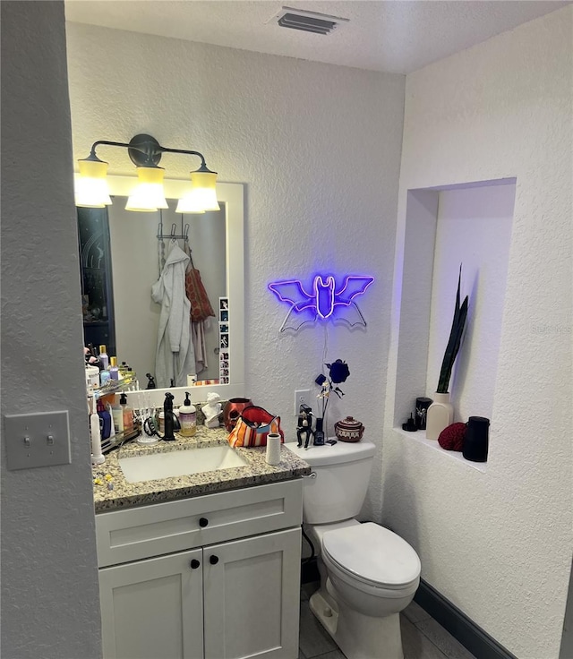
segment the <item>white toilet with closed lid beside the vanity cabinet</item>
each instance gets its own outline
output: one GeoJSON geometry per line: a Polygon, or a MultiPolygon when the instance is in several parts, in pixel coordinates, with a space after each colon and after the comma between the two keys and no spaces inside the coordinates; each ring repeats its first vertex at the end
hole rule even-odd
{"type": "Polygon", "coordinates": [[[347,659],[403,659],[399,612],[420,584],[415,550],[389,529],[355,519],[372,471],[368,441],[298,448],[312,467],[303,519],[321,573],[310,606],[347,659]]]}

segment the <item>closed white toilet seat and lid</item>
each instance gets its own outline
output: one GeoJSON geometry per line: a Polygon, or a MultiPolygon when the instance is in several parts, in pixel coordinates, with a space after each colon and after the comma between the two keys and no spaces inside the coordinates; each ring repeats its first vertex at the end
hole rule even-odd
{"type": "Polygon", "coordinates": [[[415,550],[372,522],[328,531],[322,537],[322,552],[340,578],[364,591],[381,588],[402,594],[419,585],[421,565],[415,550]]]}

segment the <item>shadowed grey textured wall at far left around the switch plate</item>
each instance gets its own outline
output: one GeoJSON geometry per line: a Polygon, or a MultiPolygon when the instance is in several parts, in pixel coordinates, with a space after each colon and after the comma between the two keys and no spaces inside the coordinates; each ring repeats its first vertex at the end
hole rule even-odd
{"type": "Polygon", "coordinates": [[[2,413],[69,410],[72,464],[8,471],[2,656],[101,655],[64,3],[2,3],[2,413]]]}

